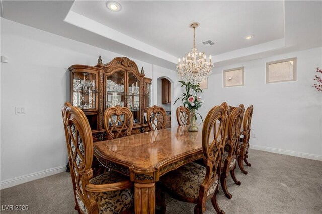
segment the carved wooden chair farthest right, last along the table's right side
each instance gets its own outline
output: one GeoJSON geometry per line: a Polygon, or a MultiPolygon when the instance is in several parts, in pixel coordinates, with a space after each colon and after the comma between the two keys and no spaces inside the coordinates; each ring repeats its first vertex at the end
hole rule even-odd
{"type": "Polygon", "coordinates": [[[243,139],[242,142],[239,142],[239,156],[237,158],[238,166],[243,172],[243,174],[247,174],[248,172],[244,169],[243,160],[247,166],[251,166],[251,164],[247,161],[248,158],[248,148],[250,147],[250,133],[251,133],[251,122],[253,116],[253,105],[250,105],[244,114],[243,118],[243,139]]]}

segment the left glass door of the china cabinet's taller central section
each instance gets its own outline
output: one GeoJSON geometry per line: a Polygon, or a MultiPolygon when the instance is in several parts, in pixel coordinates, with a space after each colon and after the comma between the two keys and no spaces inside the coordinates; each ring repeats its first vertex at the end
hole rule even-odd
{"type": "Polygon", "coordinates": [[[106,77],[106,108],[124,106],[124,72],[119,71],[106,77]]]}

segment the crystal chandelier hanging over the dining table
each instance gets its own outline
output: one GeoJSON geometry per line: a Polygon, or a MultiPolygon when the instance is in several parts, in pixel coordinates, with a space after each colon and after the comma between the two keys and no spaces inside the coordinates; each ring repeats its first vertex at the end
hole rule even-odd
{"type": "Polygon", "coordinates": [[[198,26],[199,23],[197,22],[189,25],[190,28],[193,28],[193,48],[191,52],[182,58],[182,62],[180,58],[178,60],[177,72],[180,79],[185,82],[199,83],[211,74],[211,55],[209,56],[209,62],[207,62],[205,53],[198,53],[198,49],[196,48],[195,28],[198,26]]]}

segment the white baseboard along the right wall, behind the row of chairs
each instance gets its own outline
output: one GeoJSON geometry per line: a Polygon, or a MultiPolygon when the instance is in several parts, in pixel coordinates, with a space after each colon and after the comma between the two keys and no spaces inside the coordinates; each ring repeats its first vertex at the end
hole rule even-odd
{"type": "Polygon", "coordinates": [[[251,144],[250,144],[250,149],[267,151],[267,152],[272,152],[272,153],[277,153],[277,154],[286,154],[286,155],[295,156],[295,157],[302,157],[302,158],[322,161],[321,155],[307,154],[307,153],[302,153],[302,152],[289,151],[289,150],[284,150],[284,149],[276,149],[276,148],[257,146],[257,145],[251,145],[251,144]]]}

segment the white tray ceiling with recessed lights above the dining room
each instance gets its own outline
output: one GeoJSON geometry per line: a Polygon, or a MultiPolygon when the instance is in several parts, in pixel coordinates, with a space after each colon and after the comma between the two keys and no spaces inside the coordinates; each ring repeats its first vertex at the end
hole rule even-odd
{"type": "Polygon", "coordinates": [[[116,14],[103,1],[0,0],[4,19],[173,71],[192,47],[188,20],[198,8],[204,11],[191,20],[201,22],[197,39],[215,43],[198,48],[216,67],[322,46],[322,1],[201,3],[124,1],[116,14]],[[248,34],[254,38],[243,40],[248,34]]]}

